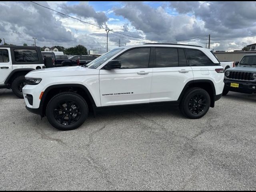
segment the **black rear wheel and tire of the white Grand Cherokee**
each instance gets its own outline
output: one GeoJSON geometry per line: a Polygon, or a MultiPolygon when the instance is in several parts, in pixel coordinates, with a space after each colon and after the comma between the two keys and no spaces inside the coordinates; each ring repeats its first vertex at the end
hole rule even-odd
{"type": "Polygon", "coordinates": [[[198,87],[189,88],[180,102],[180,111],[188,118],[198,119],[208,112],[210,102],[206,90],[198,87]]]}

